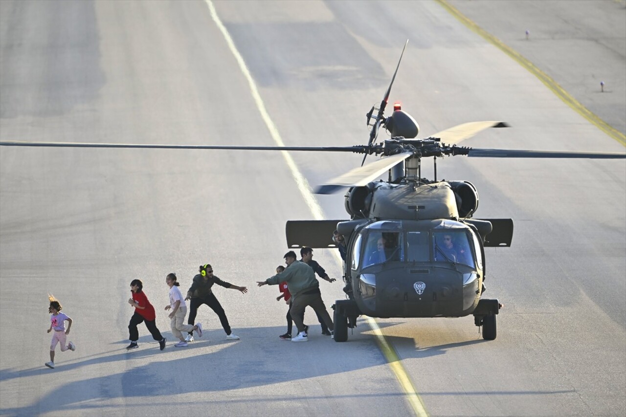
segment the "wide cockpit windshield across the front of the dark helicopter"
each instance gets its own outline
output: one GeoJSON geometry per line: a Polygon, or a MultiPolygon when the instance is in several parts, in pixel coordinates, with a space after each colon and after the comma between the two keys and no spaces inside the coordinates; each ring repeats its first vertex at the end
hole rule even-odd
{"type": "Polygon", "coordinates": [[[454,220],[380,221],[364,227],[352,248],[352,270],[388,262],[447,262],[481,268],[478,237],[454,220]],[[477,256],[478,255],[478,256],[477,256]]]}

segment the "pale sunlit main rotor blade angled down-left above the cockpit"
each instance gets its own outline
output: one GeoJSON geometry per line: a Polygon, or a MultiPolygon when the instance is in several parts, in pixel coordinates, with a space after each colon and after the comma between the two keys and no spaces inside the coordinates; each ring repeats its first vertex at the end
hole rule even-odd
{"type": "Polygon", "coordinates": [[[396,155],[389,155],[388,157],[381,158],[376,162],[368,163],[363,167],[357,167],[353,170],[339,175],[339,177],[332,178],[323,185],[316,188],[316,194],[332,194],[346,187],[361,187],[367,183],[375,180],[383,172],[393,167],[399,162],[402,162],[408,157],[411,157],[413,152],[402,152],[396,155]]]}

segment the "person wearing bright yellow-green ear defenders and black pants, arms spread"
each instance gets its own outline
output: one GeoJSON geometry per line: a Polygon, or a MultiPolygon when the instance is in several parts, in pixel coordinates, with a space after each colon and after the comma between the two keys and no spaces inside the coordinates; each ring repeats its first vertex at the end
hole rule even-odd
{"type": "MultiPolygon", "coordinates": [[[[200,265],[198,272],[200,272],[200,274],[193,277],[193,284],[189,287],[187,297],[185,297],[185,301],[191,300],[189,303],[189,318],[187,319],[187,322],[189,324],[193,324],[195,316],[198,313],[198,307],[202,306],[202,304],[207,304],[207,306],[209,306],[215,314],[220,317],[220,323],[222,323],[222,327],[226,332],[226,338],[229,340],[239,340],[239,336],[235,336],[235,334],[231,331],[226,313],[224,312],[220,302],[217,301],[217,297],[213,294],[211,287],[213,287],[213,284],[217,284],[218,286],[222,286],[224,288],[236,289],[237,291],[241,291],[242,294],[248,292],[248,289],[246,287],[235,286],[230,284],[230,282],[222,281],[217,276],[213,275],[213,267],[209,264],[200,265]]],[[[185,341],[193,341],[193,332],[188,334],[185,341]]]]}

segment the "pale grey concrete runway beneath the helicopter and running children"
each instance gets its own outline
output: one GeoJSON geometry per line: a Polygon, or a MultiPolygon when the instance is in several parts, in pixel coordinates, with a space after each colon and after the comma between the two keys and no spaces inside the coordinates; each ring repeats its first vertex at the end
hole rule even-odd
{"type": "MultiPolygon", "coordinates": [[[[453,4],[505,43],[499,31],[518,31],[484,16],[543,16],[551,32],[567,34],[593,5],[607,24],[592,27],[609,45],[593,53],[617,81],[607,82],[607,95],[585,83],[577,100],[624,131],[615,108],[626,108],[623,1],[453,4]]],[[[505,120],[511,128],[464,145],[624,150],[439,3],[214,6],[285,145],[366,143],[364,115],[410,39],[390,101],[402,101],[420,136],[505,120]]],[[[526,46],[547,29],[530,30],[526,46]]],[[[592,43],[582,42],[585,51],[592,43]]],[[[565,58],[578,53],[562,45],[546,36],[530,56],[509,44],[575,94],[565,58]]],[[[580,80],[590,78],[587,64],[580,80]]],[[[202,1],[2,1],[0,88],[1,140],[275,145],[202,1]]],[[[310,185],[361,161],[291,156],[310,185]]],[[[456,157],[439,160],[438,175],[473,182],[476,217],[511,217],[515,235],[512,247],[487,253],[486,295],[505,304],[495,341],[480,338],[472,317],[379,320],[426,412],[626,414],[625,162],[456,157]]],[[[347,218],[341,193],[317,202],[326,218],[347,218]]],[[[255,281],[283,261],[285,220],[312,218],[280,153],[0,148],[0,415],[416,414],[365,321],[342,344],[318,326],[307,343],[277,337],[285,304],[276,287],[255,281]],[[165,275],[177,272],[186,290],[206,262],[250,290],[215,290],[241,340],[226,341],[217,316],[201,307],[205,336],[174,348],[165,275]],[[141,327],[140,348],[124,349],[135,278],[168,338],[163,352],[141,327]],[[49,292],[73,318],[77,346],[57,350],[56,369],[43,366],[49,292]]],[[[341,281],[330,250],[315,259],[341,281]]],[[[341,282],[321,287],[327,307],[343,298],[341,282]]]]}

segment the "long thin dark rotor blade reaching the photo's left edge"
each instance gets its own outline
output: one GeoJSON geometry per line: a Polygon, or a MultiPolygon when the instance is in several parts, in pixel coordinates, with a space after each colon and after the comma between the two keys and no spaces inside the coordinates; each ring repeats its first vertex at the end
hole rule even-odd
{"type": "Polygon", "coordinates": [[[321,152],[366,152],[364,146],[356,147],[255,147],[222,145],[150,145],[142,143],[86,143],[86,142],[0,142],[6,147],[61,147],[61,148],[149,148],[149,149],[220,149],[220,150],[285,150],[321,152]]]}

